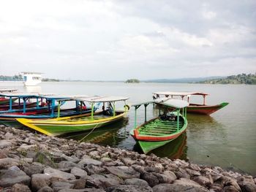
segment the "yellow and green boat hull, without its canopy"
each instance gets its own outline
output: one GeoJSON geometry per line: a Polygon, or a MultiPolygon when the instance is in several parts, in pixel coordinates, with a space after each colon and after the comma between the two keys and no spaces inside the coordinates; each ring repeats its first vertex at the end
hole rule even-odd
{"type": "Polygon", "coordinates": [[[94,128],[106,126],[110,123],[116,122],[126,115],[127,112],[121,112],[119,115],[110,116],[109,118],[96,119],[97,113],[94,115],[94,119],[90,119],[90,114],[76,115],[74,117],[67,118],[55,118],[49,120],[31,120],[18,118],[18,122],[22,123],[29,128],[33,128],[42,134],[49,136],[59,136],[61,134],[68,134],[78,131],[88,131],[94,128]],[[83,118],[87,118],[83,120],[83,118]]]}

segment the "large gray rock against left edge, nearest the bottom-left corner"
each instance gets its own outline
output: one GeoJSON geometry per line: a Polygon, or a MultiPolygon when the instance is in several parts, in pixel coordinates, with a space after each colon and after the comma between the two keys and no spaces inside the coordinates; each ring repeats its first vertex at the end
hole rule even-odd
{"type": "Polygon", "coordinates": [[[9,187],[15,183],[29,185],[30,177],[20,169],[12,169],[12,167],[7,170],[0,170],[0,186],[9,187]]]}

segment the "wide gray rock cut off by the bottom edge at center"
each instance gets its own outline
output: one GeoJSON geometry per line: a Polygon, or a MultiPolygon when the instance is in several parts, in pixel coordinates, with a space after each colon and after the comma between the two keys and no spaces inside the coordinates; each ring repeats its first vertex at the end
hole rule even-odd
{"type": "Polygon", "coordinates": [[[138,185],[118,185],[110,188],[106,188],[107,192],[153,192],[149,186],[138,186],[138,185]]]}

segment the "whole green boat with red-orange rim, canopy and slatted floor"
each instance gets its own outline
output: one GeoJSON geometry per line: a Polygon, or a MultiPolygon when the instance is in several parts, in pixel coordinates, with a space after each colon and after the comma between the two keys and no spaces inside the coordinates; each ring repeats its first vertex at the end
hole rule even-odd
{"type": "Polygon", "coordinates": [[[155,99],[132,105],[135,107],[135,128],[130,131],[130,134],[138,142],[143,153],[173,141],[186,131],[187,106],[189,106],[187,101],[179,99],[155,99]],[[159,108],[158,117],[146,120],[148,104],[160,104],[164,110],[161,112],[159,108]],[[141,105],[145,107],[145,123],[137,127],[137,110],[141,105]]]}

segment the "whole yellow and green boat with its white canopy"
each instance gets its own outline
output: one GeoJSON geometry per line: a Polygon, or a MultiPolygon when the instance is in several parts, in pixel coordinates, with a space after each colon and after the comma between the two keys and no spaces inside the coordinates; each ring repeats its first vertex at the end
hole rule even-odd
{"type": "Polygon", "coordinates": [[[127,97],[118,96],[94,96],[89,98],[73,98],[78,101],[91,104],[91,114],[75,115],[66,118],[52,118],[44,120],[18,118],[18,122],[24,126],[33,128],[42,134],[59,136],[78,131],[88,131],[94,128],[106,126],[110,123],[121,120],[127,114],[129,106],[126,104],[127,97]],[[124,101],[124,109],[116,110],[116,102],[124,101]],[[102,104],[102,110],[94,112],[94,106],[102,104]]]}

